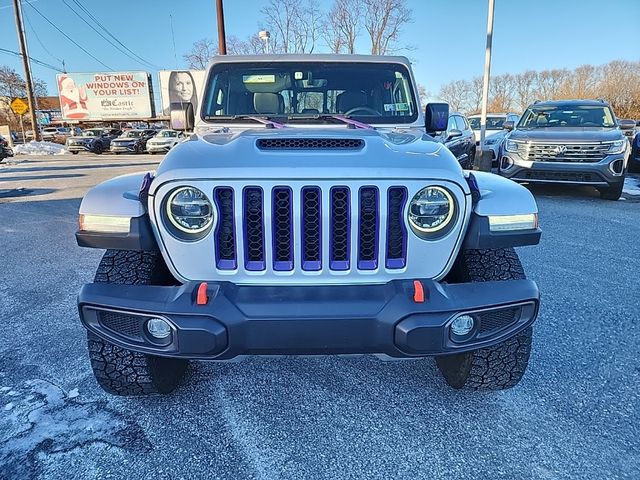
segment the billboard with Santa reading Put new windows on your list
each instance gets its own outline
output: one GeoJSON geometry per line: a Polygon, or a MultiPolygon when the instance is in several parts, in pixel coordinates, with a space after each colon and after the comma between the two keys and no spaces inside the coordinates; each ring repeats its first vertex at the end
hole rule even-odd
{"type": "Polygon", "coordinates": [[[146,72],[57,75],[64,120],[138,120],[155,116],[151,75],[146,72]]]}

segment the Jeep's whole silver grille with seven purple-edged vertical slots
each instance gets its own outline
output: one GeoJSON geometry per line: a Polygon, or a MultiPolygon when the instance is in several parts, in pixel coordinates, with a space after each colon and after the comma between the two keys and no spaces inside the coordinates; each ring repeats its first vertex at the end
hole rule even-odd
{"type": "Polygon", "coordinates": [[[380,254],[386,257],[382,261],[387,269],[406,266],[407,189],[403,186],[391,186],[383,192],[372,185],[354,190],[342,185],[296,189],[274,186],[270,192],[247,186],[240,198],[242,205],[234,205],[231,187],[214,189],[218,270],[231,271],[243,266],[249,272],[258,272],[265,270],[270,261],[277,272],[296,269],[313,272],[327,267],[336,272],[354,267],[370,271],[380,267],[380,254]],[[357,197],[353,199],[352,195],[357,197]],[[380,211],[381,195],[387,198],[384,212],[380,211]],[[270,208],[265,207],[266,196],[270,198],[270,208]],[[325,199],[328,212],[323,212],[325,199]],[[269,211],[265,212],[265,208],[269,211]],[[237,211],[241,212],[240,217],[237,211]],[[328,235],[323,235],[324,229],[328,235]],[[241,251],[236,248],[240,243],[238,235],[244,245],[241,251]],[[323,251],[329,253],[328,265],[323,265],[323,251]],[[300,265],[295,264],[296,258],[300,265]]]}

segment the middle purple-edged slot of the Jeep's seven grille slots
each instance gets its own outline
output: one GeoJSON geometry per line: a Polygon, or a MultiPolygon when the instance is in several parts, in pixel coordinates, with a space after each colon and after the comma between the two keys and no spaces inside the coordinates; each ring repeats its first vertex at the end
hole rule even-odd
{"type": "Polygon", "coordinates": [[[322,268],[322,193],[318,187],[302,189],[302,269],[322,268]]]}

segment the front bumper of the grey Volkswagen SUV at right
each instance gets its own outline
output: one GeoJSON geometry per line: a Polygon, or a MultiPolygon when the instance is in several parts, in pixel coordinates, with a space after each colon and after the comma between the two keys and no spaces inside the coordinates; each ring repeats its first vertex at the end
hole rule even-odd
{"type": "Polygon", "coordinates": [[[607,187],[624,181],[625,154],[608,155],[599,162],[552,162],[523,160],[518,154],[503,152],[500,175],[517,182],[559,183],[607,187]],[[620,162],[614,173],[610,166],[620,162]],[[504,168],[510,165],[509,168],[504,168]]]}

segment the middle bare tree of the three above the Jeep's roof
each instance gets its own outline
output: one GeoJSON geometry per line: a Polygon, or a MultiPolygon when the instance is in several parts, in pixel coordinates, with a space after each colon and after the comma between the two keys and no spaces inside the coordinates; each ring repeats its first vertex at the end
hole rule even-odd
{"type": "Polygon", "coordinates": [[[362,28],[362,0],[335,0],[329,11],[323,35],[333,53],[356,52],[356,39],[362,28]]]}

